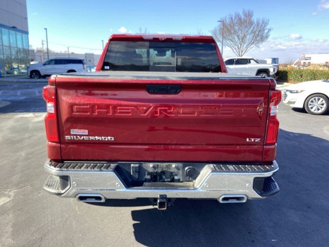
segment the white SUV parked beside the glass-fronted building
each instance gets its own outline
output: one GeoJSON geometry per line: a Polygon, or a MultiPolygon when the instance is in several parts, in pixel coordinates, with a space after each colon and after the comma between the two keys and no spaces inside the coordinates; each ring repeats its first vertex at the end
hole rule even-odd
{"type": "Polygon", "coordinates": [[[53,74],[63,74],[86,71],[86,65],[80,58],[54,58],[44,63],[30,64],[27,67],[27,75],[30,78],[41,78],[53,74]]]}

